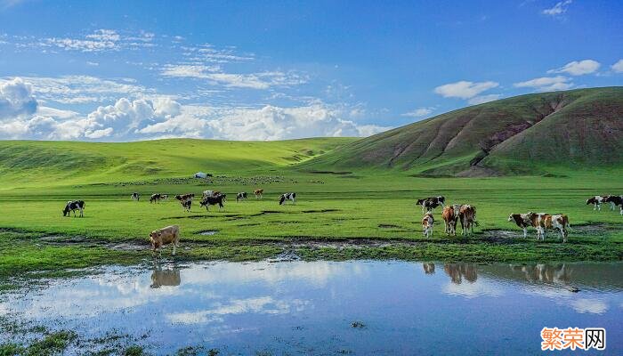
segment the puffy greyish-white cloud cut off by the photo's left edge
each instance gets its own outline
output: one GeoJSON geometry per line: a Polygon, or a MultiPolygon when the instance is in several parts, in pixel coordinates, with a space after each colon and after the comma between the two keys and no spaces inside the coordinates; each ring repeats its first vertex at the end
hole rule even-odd
{"type": "Polygon", "coordinates": [[[37,105],[32,86],[21,78],[0,83],[0,120],[5,117],[32,115],[36,112],[37,105]]]}

